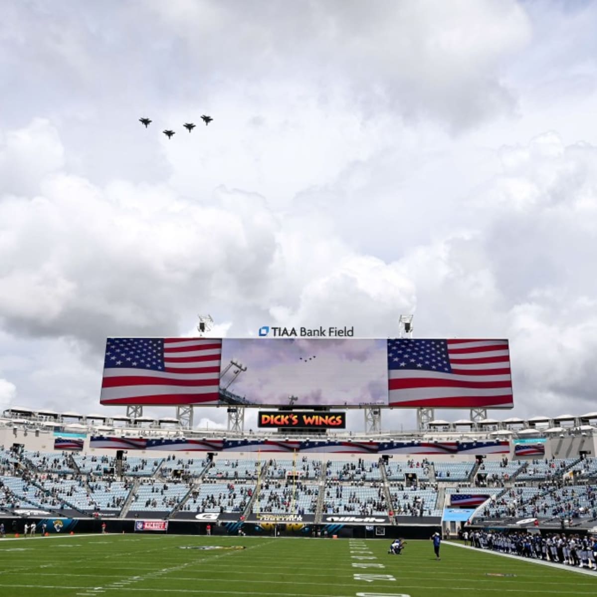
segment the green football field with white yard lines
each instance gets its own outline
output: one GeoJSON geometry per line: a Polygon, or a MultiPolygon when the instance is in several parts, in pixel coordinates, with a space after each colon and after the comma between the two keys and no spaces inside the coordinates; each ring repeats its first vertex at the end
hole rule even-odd
{"type": "Polygon", "coordinates": [[[408,541],[401,556],[391,556],[389,543],[141,534],[7,538],[0,540],[0,594],[597,595],[597,573],[575,574],[445,543],[438,562],[430,541],[408,541]]]}

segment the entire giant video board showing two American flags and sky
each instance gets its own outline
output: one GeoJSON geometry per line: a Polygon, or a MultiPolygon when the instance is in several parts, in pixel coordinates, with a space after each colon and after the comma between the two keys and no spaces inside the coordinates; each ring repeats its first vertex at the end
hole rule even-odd
{"type": "Polygon", "coordinates": [[[513,407],[507,340],[320,336],[107,338],[100,402],[513,407]]]}

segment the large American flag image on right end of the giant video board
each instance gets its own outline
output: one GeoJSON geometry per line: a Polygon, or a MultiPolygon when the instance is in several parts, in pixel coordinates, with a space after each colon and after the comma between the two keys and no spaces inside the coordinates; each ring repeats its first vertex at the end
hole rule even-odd
{"type": "Polygon", "coordinates": [[[388,340],[387,368],[390,407],[513,407],[507,340],[388,340]]]}

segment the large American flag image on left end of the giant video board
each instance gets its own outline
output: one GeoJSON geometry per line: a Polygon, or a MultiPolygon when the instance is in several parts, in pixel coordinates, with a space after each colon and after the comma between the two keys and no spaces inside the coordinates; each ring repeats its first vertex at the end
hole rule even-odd
{"type": "Polygon", "coordinates": [[[101,404],[217,404],[221,340],[108,338],[101,404]]]}

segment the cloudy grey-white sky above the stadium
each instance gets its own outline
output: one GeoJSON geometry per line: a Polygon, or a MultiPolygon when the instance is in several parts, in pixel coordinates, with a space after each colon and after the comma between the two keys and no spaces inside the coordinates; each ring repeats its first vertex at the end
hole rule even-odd
{"type": "Polygon", "coordinates": [[[0,405],[97,411],[106,336],[198,313],[367,337],[414,313],[416,337],[510,338],[509,414],[597,410],[595,23],[581,0],[5,0],[0,405]]]}

